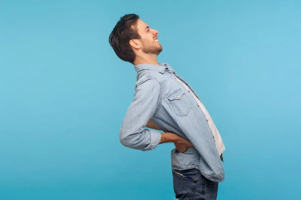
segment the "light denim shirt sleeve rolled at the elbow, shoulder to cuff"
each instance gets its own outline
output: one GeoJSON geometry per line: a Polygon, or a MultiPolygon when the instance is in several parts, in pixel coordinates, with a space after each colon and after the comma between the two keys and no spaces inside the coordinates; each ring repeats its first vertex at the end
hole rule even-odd
{"type": "Polygon", "coordinates": [[[128,107],[120,128],[120,142],[129,148],[152,150],[161,141],[161,133],[145,129],[160,103],[160,83],[147,79],[135,88],[134,98],[128,107]]]}

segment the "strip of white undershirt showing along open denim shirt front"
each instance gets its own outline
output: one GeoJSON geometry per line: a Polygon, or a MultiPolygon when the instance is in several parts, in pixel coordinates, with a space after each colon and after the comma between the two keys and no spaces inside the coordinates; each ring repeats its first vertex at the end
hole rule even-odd
{"type": "Polygon", "coordinates": [[[221,137],[218,129],[216,128],[216,126],[213,122],[213,119],[211,118],[209,112],[205,108],[204,104],[200,101],[200,99],[189,89],[189,87],[182,80],[180,80],[179,78],[176,77],[176,79],[179,80],[179,82],[181,82],[183,84],[183,86],[189,91],[189,93],[192,94],[192,96],[196,99],[196,101],[200,105],[202,111],[204,112],[204,114],[207,118],[207,121],[209,123],[209,127],[212,130],[212,134],[213,134],[213,138],[215,140],[216,148],[219,152],[219,155],[221,155],[224,152],[224,150],[226,149],[226,147],[223,143],[222,137],[221,137]]]}

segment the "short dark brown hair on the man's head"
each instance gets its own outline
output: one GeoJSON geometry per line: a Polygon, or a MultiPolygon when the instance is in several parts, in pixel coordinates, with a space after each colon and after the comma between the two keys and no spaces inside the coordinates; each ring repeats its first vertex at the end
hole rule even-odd
{"type": "Polygon", "coordinates": [[[134,62],[136,55],[129,45],[129,40],[140,38],[137,31],[138,19],[137,14],[125,14],[120,17],[109,36],[109,43],[116,55],[130,63],[134,62]]]}

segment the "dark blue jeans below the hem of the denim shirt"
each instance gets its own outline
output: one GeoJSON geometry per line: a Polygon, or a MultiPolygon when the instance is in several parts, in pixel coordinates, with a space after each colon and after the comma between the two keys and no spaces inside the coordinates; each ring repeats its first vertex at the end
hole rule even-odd
{"type": "Polygon", "coordinates": [[[218,182],[207,179],[198,169],[173,169],[174,191],[179,200],[213,200],[218,182]]]}

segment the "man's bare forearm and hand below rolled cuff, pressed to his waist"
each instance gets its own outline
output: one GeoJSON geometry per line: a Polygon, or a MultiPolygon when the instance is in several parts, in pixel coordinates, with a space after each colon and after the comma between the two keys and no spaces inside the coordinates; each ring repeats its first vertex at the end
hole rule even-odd
{"type": "Polygon", "coordinates": [[[186,152],[189,147],[193,146],[193,144],[188,139],[185,139],[184,137],[181,137],[180,135],[172,132],[161,133],[160,143],[165,142],[174,142],[176,148],[180,153],[186,152]]]}

